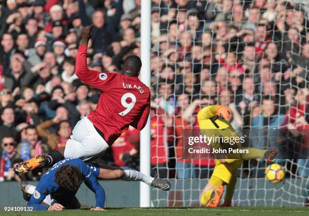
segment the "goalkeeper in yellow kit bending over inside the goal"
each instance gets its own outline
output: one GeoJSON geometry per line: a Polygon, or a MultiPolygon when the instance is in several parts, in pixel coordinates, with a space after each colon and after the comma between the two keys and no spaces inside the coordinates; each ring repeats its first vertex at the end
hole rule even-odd
{"type": "MultiPolygon", "coordinates": [[[[230,117],[231,111],[226,106],[214,105],[204,107],[197,113],[199,127],[205,135],[215,137],[237,137],[237,133],[231,124],[226,120],[230,117]]],[[[211,148],[218,149],[218,144],[222,148],[223,143],[210,143],[211,148]]],[[[217,207],[220,204],[224,193],[224,186],[227,191],[222,206],[230,206],[236,185],[236,171],[241,166],[243,160],[264,158],[273,161],[277,155],[277,149],[260,150],[253,148],[242,148],[240,142],[233,146],[233,149],[247,150],[249,153],[215,154],[216,166],[214,172],[200,194],[200,203],[206,207],[217,207]]],[[[239,151],[240,152],[240,151],[239,151]]]]}

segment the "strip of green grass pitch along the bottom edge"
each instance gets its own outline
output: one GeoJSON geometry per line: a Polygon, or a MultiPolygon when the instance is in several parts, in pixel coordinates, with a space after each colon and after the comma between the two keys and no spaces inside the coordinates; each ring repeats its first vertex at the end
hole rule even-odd
{"type": "Polygon", "coordinates": [[[95,215],[125,215],[125,216],[173,216],[173,215],[220,215],[220,216],[291,216],[291,215],[309,215],[309,207],[229,207],[229,208],[118,208],[107,209],[107,211],[64,210],[64,211],[31,211],[31,212],[8,212],[0,211],[0,215],[16,216],[42,216],[42,215],[61,215],[61,216],[95,216],[95,215]]]}

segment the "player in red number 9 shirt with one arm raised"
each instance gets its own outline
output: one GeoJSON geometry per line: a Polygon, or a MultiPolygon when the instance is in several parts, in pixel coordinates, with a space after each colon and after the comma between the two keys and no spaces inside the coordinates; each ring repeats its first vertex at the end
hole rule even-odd
{"type": "Polygon", "coordinates": [[[82,28],[76,57],[76,76],[101,91],[95,110],[75,125],[65,147],[47,156],[40,155],[18,164],[15,167],[17,172],[50,167],[65,158],[93,161],[103,155],[130,125],[138,130],[146,125],[150,111],[150,90],[138,79],[140,58],[128,56],[122,65],[122,74],[89,70],[86,57],[91,34],[92,25],[82,28]]]}

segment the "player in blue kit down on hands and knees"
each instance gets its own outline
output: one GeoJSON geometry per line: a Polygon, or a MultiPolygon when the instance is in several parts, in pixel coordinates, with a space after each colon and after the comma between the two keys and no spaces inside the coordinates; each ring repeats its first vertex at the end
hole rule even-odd
{"type": "MultiPolygon", "coordinates": [[[[162,182],[167,182],[170,185],[168,181],[161,181],[161,179],[153,179],[152,182],[148,182],[148,178],[144,174],[130,173],[130,171],[131,169],[128,167],[111,167],[95,162],[87,166],[80,159],[65,159],[50,168],[36,187],[26,182],[22,182],[20,186],[24,199],[28,201],[28,206],[33,206],[37,210],[63,210],[64,208],[80,208],[75,194],[80,185],[85,182],[87,187],[95,193],[96,207],[91,210],[102,210],[105,192],[96,178],[131,180],[132,176],[129,175],[137,173],[138,176],[135,176],[135,179],[148,185],[158,187],[162,182]],[[156,182],[157,184],[153,184],[156,182]],[[42,202],[49,206],[42,205],[42,202]]],[[[161,187],[161,189],[169,190],[170,188],[161,187]]]]}

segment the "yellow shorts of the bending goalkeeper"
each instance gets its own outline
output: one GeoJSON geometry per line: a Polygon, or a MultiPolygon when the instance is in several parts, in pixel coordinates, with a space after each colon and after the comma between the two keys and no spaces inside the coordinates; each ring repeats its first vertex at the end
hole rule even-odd
{"type": "Polygon", "coordinates": [[[237,169],[241,166],[242,160],[237,160],[233,163],[222,163],[216,159],[216,166],[213,172],[213,176],[220,178],[225,183],[229,184],[231,177],[236,173],[237,169]]]}

